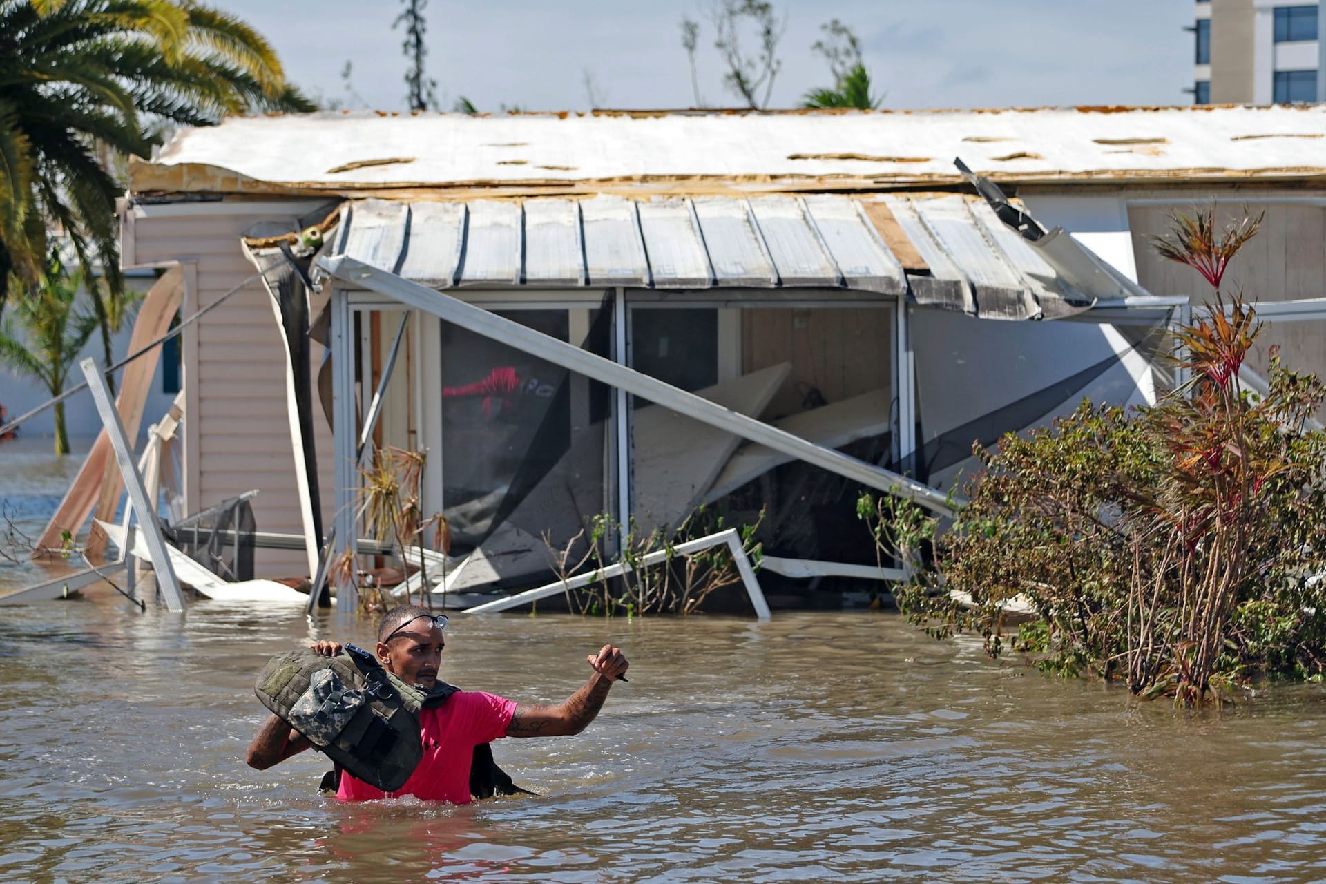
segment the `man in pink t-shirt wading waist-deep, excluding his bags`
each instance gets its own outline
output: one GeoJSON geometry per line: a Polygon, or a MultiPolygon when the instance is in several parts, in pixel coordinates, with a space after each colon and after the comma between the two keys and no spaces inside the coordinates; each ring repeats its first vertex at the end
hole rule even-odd
{"type": "MultiPolygon", "coordinates": [[[[435,687],[443,684],[438,681],[438,665],[446,645],[446,616],[432,615],[416,604],[392,608],[378,626],[378,660],[400,681],[436,693],[435,687]]],[[[318,641],[312,647],[328,657],[342,651],[335,641],[318,641]]],[[[594,721],[613,683],[626,673],[629,665],[622,652],[609,644],[589,655],[587,660],[594,675],[560,704],[517,704],[491,693],[455,691],[438,705],[419,709],[423,759],[404,786],[390,797],[415,795],[426,801],[467,804],[475,746],[499,737],[578,734],[594,721]]],[[[273,714],[253,738],[247,762],[251,767],[267,770],[310,746],[313,741],[309,737],[273,714]]],[[[387,797],[387,793],[358,779],[349,770],[341,771],[337,798],[369,801],[387,797]]]]}

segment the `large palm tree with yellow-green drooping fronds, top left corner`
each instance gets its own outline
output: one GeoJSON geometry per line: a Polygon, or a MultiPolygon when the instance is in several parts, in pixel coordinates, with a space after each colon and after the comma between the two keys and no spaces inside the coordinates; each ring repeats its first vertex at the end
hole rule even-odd
{"type": "Polygon", "coordinates": [[[313,105],[229,13],[194,0],[0,0],[0,309],[38,280],[57,225],[82,265],[109,364],[123,184],[102,158],[150,156],[163,123],[249,110],[313,105]]]}

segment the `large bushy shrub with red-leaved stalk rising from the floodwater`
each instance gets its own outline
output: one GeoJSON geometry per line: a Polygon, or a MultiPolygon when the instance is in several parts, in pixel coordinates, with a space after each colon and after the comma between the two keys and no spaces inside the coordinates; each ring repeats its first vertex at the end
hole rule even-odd
{"type": "MultiPolygon", "coordinates": [[[[1176,216],[1158,243],[1212,288],[1176,334],[1191,380],[1152,407],[1085,402],[975,448],[984,469],[964,488],[969,502],[934,569],[899,591],[915,622],[940,636],[980,631],[997,655],[1020,599],[1036,616],[1012,644],[1042,668],[1184,705],[1257,675],[1326,673],[1326,433],[1310,420],[1326,388],[1273,349],[1265,395],[1248,390],[1240,371],[1261,325],[1241,292],[1221,289],[1260,220],[1221,229],[1204,209],[1176,216]]],[[[898,513],[865,510],[888,554],[926,520],[900,510],[903,530],[886,525],[898,513]]]]}

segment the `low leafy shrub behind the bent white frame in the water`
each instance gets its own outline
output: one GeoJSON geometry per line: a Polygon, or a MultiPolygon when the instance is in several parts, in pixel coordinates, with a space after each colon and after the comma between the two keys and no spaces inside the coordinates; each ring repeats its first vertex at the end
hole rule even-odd
{"type": "MultiPolygon", "coordinates": [[[[741,547],[753,563],[758,563],[761,545],[754,534],[764,520],[760,517],[737,527],[741,547]]],[[[741,582],[741,574],[732,561],[727,543],[690,553],[678,547],[708,534],[724,530],[724,520],[701,506],[675,529],[655,527],[640,531],[635,520],[619,525],[606,513],[589,520],[587,525],[565,545],[557,546],[550,535],[544,535],[553,561],[553,570],[564,583],[589,566],[594,579],[581,588],[568,588],[566,600],[572,611],[602,616],[646,614],[695,614],[715,591],[741,582]],[[609,538],[617,538],[617,561],[627,566],[617,578],[603,577],[613,563],[609,538]],[[652,558],[646,558],[654,555],[652,558]],[[654,561],[658,558],[659,561],[654,561]]]]}

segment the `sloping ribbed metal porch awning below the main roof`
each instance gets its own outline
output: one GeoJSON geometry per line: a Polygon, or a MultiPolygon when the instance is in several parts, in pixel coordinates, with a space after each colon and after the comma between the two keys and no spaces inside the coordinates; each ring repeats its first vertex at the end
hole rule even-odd
{"type": "Polygon", "coordinates": [[[883,199],[900,229],[890,232],[892,248],[871,200],[815,195],[354,200],[342,208],[332,250],[432,289],[845,289],[908,294],[923,306],[992,319],[1091,306],[984,200],[883,199]],[[927,268],[904,270],[894,252],[903,245],[927,268]]]}

